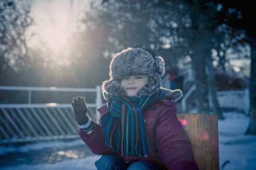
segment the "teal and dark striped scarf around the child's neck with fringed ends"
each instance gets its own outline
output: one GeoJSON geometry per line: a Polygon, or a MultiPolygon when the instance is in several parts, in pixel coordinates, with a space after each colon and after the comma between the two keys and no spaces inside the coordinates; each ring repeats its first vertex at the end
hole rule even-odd
{"type": "Polygon", "coordinates": [[[161,90],[142,97],[111,95],[107,101],[107,108],[110,111],[100,117],[106,146],[122,155],[141,157],[151,152],[142,111],[162,96],[161,90]]]}

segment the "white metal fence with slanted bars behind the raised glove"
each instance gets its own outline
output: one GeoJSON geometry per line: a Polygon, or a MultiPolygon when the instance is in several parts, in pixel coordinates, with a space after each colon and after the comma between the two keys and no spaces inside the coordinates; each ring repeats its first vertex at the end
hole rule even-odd
{"type": "Polygon", "coordinates": [[[98,121],[97,108],[102,106],[101,88],[75,89],[55,87],[5,87],[0,90],[28,91],[28,104],[0,104],[0,143],[17,143],[58,138],[77,138],[73,109],[69,104],[31,104],[32,91],[94,92],[96,102],[88,103],[88,114],[98,121]]]}

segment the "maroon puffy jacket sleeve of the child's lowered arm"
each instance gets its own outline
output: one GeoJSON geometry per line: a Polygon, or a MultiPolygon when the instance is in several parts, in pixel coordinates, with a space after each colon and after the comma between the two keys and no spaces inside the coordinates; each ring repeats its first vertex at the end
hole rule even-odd
{"type": "Polygon", "coordinates": [[[158,155],[168,169],[198,169],[192,145],[176,119],[175,103],[163,105],[156,124],[158,155]]]}

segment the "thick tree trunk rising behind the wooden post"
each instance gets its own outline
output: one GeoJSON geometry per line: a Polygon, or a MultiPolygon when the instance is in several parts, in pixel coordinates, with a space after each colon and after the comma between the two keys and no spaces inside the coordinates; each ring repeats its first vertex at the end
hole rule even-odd
{"type": "MultiPolygon", "coordinates": [[[[190,18],[191,32],[189,45],[193,50],[192,67],[195,72],[195,100],[197,102],[197,112],[199,114],[207,114],[209,112],[209,100],[208,100],[208,80],[206,75],[206,56],[209,55],[208,49],[211,42],[211,38],[206,31],[205,18],[202,17],[204,13],[200,9],[200,2],[193,1],[191,6],[190,18]]],[[[183,33],[184,34],[184,33],[183,33]]]]}

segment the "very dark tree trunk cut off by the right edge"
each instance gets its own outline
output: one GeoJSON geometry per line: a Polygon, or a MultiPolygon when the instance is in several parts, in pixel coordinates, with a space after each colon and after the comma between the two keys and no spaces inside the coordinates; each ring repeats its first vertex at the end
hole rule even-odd
{"type": "Polygon", "coordinates": [[[251,77],[250,77],[250,124],[246,134],[256,134],[256,40],[251,45],[251,77]]]}

